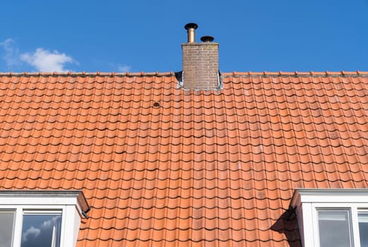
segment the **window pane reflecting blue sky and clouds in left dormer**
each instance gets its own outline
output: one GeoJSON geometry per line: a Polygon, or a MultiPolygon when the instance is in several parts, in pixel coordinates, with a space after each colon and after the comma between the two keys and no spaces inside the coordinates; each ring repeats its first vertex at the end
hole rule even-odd
{"type": "Polygon", "coordinates": [[[21,247],[59,247],[61,214],[23,215],[21,247]]]}

